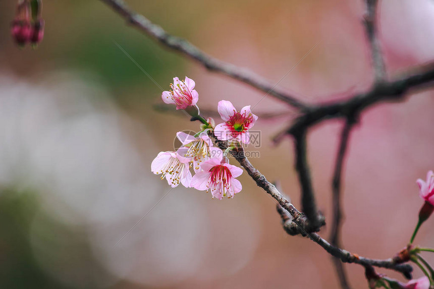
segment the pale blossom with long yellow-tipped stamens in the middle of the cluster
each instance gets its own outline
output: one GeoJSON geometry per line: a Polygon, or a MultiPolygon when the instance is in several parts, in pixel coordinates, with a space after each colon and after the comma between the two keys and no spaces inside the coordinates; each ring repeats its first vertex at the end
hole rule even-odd
{"type": "Polygon", "coordinates": [[[183,144],[177,150],[177,153],[183,157],[189,158],[193,162],[195,172],[200,170],[200,164],[208,160],[211,156],[222,153],[222,150],[214,147],[212,140],[208,137],[208,130],[199,134],[198,137],[178,132],[176,134],[179,141],[183,144]]]}

